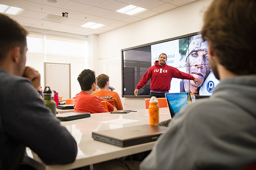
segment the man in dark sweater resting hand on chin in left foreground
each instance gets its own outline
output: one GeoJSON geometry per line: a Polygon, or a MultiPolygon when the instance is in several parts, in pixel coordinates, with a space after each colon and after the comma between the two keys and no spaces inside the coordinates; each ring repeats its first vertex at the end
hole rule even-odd
{"type": "Polygon", "coordinates": [[[27,31],[0,14],[0,34],[0,169],[27,169],[26,147],[46,164],[74,162],[75,139],[40,99],[38,71],[25,66],[27,31]]]}

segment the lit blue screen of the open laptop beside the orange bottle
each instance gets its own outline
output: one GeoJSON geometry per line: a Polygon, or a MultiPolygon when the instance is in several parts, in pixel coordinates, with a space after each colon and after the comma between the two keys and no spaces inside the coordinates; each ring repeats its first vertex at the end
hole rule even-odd
{"type": "Polygon", "coordinates": [[[165,93],[171,117],[178,114],[180,109],[191,101],[190,93],[165,93]]]}

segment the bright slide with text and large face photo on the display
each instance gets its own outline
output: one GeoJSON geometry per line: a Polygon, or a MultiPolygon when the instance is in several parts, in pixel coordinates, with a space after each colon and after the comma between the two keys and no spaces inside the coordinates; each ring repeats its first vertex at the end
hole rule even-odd
{"type": "Polygon", "coordinates": [[[167,65],[204,80],[203,83],[196,84],[193,80],[173,78],[169,93],[190,92],[198,95],[211,95],[219,81],[210,68],[207,51],[207,41],[204,41],[200,34],[158,43],[151,45],[151,65],[158,60],[158,54],[165,53],[167,65]]]}

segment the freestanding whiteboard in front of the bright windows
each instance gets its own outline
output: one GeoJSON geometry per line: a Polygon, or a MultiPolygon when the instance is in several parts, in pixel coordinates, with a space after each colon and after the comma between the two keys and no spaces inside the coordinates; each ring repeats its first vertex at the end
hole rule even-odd
{"type": "Polygon", "coordinates": [[[62,100],[70,99],[70,72],[70,64],[44,62],[44,88],[49,86],[51,90],[57,91],[58,96],[63,96],[62,100]]]}

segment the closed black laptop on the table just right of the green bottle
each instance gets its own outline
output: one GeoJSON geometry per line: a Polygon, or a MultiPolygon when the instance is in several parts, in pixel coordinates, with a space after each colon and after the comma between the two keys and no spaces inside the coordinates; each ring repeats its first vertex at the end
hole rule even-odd
{"type": "Polygon", "coordinates": [[[82,119],[82,118],[90,117],[90,116],[91,116],[90,113],[79,113],[79,112],[68,112],[68,113],[56,114],[56,117],[60,121],[73,121],[76,119],[82,119]]]}

